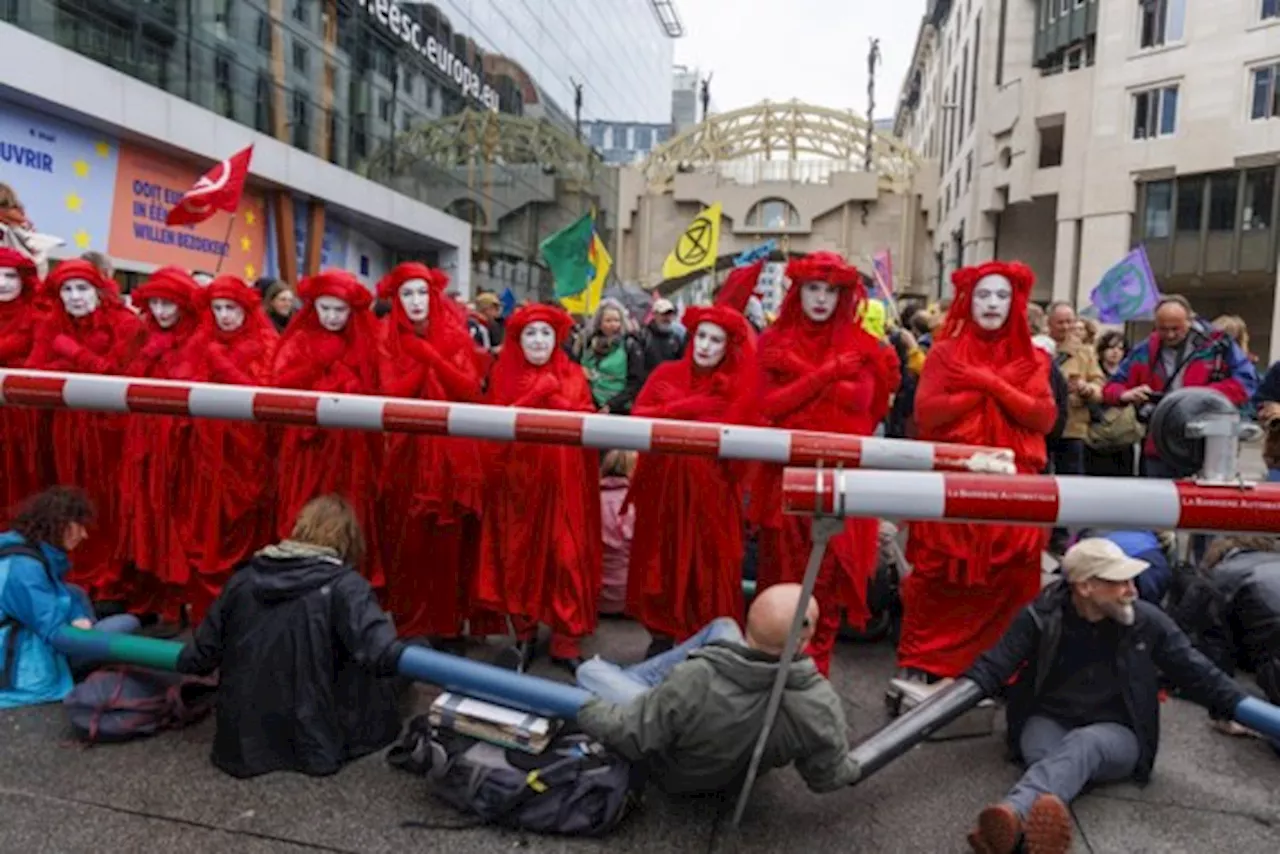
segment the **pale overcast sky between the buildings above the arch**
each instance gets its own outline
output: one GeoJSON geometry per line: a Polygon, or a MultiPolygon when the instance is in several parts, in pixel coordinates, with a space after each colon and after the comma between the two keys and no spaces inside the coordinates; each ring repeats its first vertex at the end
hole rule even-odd
{"type": "Polygon", "coordinates": [[[925,0],[676,0],[676,63],[712,78],[712,109],[792,97],[867,114],[867,51],[881,40],[876,117],[893,115],[925,0]]]}

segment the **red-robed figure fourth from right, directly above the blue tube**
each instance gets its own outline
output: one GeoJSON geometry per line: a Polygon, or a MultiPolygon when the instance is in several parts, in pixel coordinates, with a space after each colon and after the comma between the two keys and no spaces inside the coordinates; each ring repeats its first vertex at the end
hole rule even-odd
{"type": "MultiPolygon", "coordinates": [[[[582,369],[564,352],[572,319],[554,306],[517,310],[489,387],[489,402],[593,412],[582,369]]],[[[489,446],[477,603],[509,615],[521,641],[552,629],[552,658],[575,668],[595,631],[603,572],[595,451],[567,444],[489,446]]],[[[527,648],[526,648],[527,654],[527,648]]]]}

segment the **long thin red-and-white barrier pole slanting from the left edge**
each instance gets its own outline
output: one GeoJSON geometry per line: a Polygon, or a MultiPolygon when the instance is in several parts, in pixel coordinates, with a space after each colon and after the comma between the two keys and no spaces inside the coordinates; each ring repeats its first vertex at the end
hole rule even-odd
{"type": "Polygon", "coordinates": [[[795,466],[1014,471],[1011,451],[982,446],[100,374],[0,369],[0,406],[182,415],[795,466]]]}

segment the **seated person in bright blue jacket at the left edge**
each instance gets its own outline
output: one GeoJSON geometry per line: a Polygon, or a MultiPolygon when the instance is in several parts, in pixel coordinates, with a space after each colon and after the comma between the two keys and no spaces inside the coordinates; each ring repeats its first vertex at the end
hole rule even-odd
{"type": "Polygon", "coordinates": [[[83,490],[52,487],[28,498],[13,528],[0,534],[0,709],[52,703],[70,693],[77,663],[50,643],[63,626],[138,629],[132,615],[95,622],[88,595],[64,580],[92,517],[83,490]]]}

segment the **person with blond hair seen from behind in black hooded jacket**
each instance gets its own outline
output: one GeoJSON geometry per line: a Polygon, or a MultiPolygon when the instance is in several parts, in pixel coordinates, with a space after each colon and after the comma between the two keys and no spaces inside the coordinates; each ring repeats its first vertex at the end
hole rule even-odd
{"type": "Polygon", "coordinates": [[[399,734],[403,644],[360,572],[365,538],[351,504],[302,507],[289,539],[232,576],[178,657],[220,671],[212,763],[234,777],[323,776],[399,734]]]}

